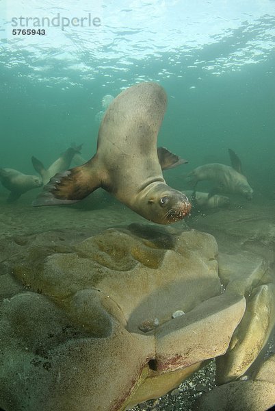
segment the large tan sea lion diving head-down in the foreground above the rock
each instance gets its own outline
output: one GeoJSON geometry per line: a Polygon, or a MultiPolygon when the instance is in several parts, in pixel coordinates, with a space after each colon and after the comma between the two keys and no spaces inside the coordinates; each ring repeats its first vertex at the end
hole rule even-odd
{"type": "Polygon", "coordinates": [[[170,224],[183,219],[191,204],[166,184],[157,155],[165,111],[166,92],[156,83],[121,92],[105,113],[94,157],[55,175],[34,206],[75,203],[102,187],[149,221],[170,224]]]}

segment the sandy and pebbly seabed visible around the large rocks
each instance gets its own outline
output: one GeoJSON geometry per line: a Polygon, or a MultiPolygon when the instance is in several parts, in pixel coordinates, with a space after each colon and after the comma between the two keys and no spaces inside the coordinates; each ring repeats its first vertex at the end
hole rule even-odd
{"type": "MultiPolygon", "coordinates": [[[[6,192],[0,193],[0,272],[12,258],[12,243],[23,243],[34,234],[53,231],[73,243],[111,227],[125,227],[131,223],[155,226],[101,190],[73,206],[34,208],[31,201],[36,192],[29,192],[12,204],[6,203],[6,197],[6,192]]],[[[252,201],[233,198],[228,209],[192,212],[192,216],[168,226],[168,229],[208,232],[215,236],[220,251],[249,250],[265,258],[271,266],[275,265],[273,199],[260,195],[252,201]]],[[[268,355],[275,352],[274,336],[265,351],[268,355]]],[[[211,361],[168,395],[146,401],[133,410],[192,410],[195,399],[215,386],[214,375],[215,361],[211,361]]]]}

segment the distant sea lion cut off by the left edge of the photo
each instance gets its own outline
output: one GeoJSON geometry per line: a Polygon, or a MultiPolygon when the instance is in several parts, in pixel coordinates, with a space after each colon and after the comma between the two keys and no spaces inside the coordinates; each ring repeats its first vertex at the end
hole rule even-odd
{"type": "Polygon", "coordinates": [[[42,179],[38,175],[27,175],[14,169],[0,169],[0,181],[10,190],[8,203],[16,201],[24,192],[42,186],[42,179]]]}

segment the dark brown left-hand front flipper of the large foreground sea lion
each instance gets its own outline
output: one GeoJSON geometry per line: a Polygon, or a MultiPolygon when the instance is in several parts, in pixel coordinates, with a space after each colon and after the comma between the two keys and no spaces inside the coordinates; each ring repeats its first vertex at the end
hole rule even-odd
{"type": "Polygon", "coordinates": [[[96,158],[92,158],[82,166],[55,174],[32,205],[57,206],[84,199],[104,182],[104,173],[96,164],[96,158]]]}

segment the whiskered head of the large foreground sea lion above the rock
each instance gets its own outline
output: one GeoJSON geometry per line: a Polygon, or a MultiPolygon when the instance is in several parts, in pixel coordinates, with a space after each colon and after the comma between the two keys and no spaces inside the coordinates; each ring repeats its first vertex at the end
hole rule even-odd
{"type": "Polygon", "coordinates": [[[176,223],[191,210],[191,203],[186,195],[165,183],[150,184],[150,188],[144,191],[135,211],[149,221],[158,224],[176,223]]]}

